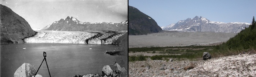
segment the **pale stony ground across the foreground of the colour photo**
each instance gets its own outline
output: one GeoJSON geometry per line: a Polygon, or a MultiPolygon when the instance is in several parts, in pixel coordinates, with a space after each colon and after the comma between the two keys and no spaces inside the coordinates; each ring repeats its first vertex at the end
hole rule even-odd
{"type": "Polygon", "coordinates": [[[209,77],[209,76],[256,76],[256,54],[242,54],[212,58],[209,60],[163,61],[150,60],[129,62],[129,77],[209,77]],[[195,65],[193,69],[186,67],[195,65]]]}

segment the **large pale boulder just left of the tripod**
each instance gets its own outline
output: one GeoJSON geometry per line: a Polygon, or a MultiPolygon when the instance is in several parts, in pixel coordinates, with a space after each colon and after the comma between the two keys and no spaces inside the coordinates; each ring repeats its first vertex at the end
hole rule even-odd
{"type": "MultiPolygon", "coordinates": [[[[14,73],[14,77],[32,77],[35,75],[35,68],[29,63],[23,63],[14,73]]],[[[36,76],[37,77],[37,76],[36,76]]]]}

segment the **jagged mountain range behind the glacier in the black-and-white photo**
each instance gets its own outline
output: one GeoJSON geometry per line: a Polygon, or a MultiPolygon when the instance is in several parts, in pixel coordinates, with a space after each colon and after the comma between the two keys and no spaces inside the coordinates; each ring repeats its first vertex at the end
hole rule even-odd
{"type": "Polygon", "coordinates": [[[121,23],[90,23],[82,22],[74,17],[67,17],[65,20],[54,21],[50,26],[46,26],[45,31],[127,31],[128,21],[121,23]]]}

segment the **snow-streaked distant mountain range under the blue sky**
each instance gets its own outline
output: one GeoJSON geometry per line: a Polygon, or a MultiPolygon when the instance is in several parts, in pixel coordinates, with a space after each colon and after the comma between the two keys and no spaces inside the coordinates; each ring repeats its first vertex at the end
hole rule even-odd
{"type": "Polygon", "coordinates": [[[202,16],[180,20],[176,24],[170,24],[163,27],[163,30],[171,31],[187,31],[187,32],[225,32],[238,33],[249,27],[249,23],[223,23],[217,21],[210,21],[202,16]]]}

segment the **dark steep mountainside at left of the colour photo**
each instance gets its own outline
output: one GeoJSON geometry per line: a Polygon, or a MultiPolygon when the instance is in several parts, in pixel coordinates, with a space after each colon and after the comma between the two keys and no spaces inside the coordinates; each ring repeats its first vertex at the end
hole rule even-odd
{"type": "Polygon", "coordinates": [[[140,12],[135,7],[129,6],[128,8],[129,35],[147,35],[148,33],[158,33],[163,31],[150,16],[140,12]]]}

